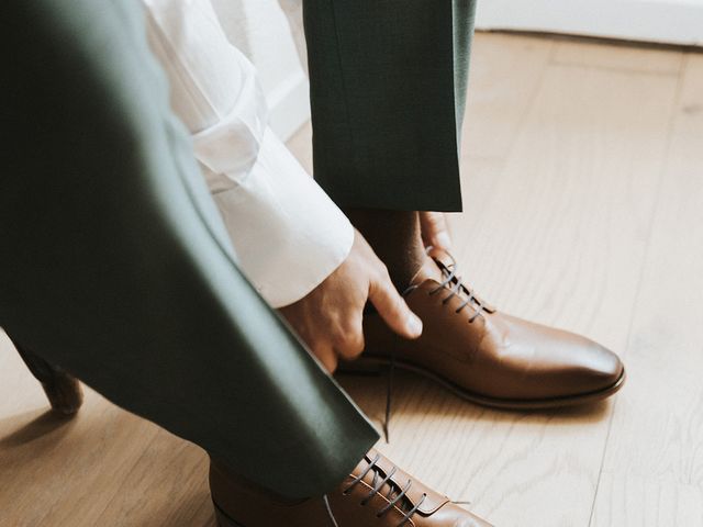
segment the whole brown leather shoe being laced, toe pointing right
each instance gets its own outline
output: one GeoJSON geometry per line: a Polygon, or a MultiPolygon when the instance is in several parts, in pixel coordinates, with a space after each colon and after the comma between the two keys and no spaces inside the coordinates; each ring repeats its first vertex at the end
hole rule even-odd
{"type": "MultiPolygon", "coordinates": [[[[450,257],[449,257],[450,258],[450,257]]],[[[444,258],[443,258],[444,259],[444,258]]],[[[588,338],[498,312],[461,283],[456,262],[434,260],[405,294],[423,321],[416,340],[395,336],[376,314],[365,317],[366,350],[345,370],[391,360],[486,406],[547,408],[601,400],[625,380],[615,354],[588,338]]]]}

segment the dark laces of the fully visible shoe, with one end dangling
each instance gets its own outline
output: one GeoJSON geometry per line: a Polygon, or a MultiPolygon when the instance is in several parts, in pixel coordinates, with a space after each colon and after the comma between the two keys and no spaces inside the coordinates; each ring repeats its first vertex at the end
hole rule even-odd
{"type": "MultiPolygon", "coordinates": [[[[432,249],[434,249],[434,247],[432,246],[426,247],[425,254],[429,255],[429,253],[432,253],[432,249]]],[[[483,316],[483,313],[486,312],[486,306],[483,304],[483,301],[479,299],[470,288],[465,285],[464,282],[461,281],[461,277],[457,274],[457,271],[459,268],[457,265],[457,260],[454,258],[454,256],[451,256],[449,253],[447,253],[447,256],[451,259],[451,264],[448,266],[437,260],[436,258],[434,259],[435,262],[437,264],[437,267],[439,267],[439,269],[442,270],[444,280],[436,288],[429,291],[429,294],[436,294],[443,290],[446,291],[447,285],[450,285],[449,294],[442,300],[443,304],[447,304],[447,302],[449,302],[453,298],[455,298],[460,293],[466,294],[466,300],[464,300],[464,302],[461,302],[461,304],[456,310],[454,310],[454,312],[458,314],[467,305],[472,307],[473,314],[469,317],[469,324],[473,324],[473,321],[476,321],[479,316],[483,316]]],[[[402,296],[408,296],[417,288],[420,288],[419,283],[411,284],[401,294],[402,296]]],[[[386,386],[386,416],[383,419],[383,437],[386,438],[386,442],[390,442],[389,426],[391,421],[394,371],[395,371],[395,350],[391,349],[391,360],[388,367],[388,378],[387,378],[388,382],[386,386]]]]}

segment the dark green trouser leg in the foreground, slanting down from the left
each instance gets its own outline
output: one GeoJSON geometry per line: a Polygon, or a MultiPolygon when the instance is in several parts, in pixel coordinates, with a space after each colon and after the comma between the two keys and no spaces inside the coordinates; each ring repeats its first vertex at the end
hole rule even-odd
{"type": "Polygon", "coordinates": [[[378,436],[238,271],[134,0],[0,8],[0,325],[292,497],[378,436]]]}

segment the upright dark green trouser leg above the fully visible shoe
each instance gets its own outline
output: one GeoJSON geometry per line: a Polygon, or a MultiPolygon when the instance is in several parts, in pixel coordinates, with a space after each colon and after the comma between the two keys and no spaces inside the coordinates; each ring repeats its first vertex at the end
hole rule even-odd
{"type": "Polygon", "coordinates": [[[460,211],[475,0],[304,0],[315,179],[344,208],[460,211]]]}

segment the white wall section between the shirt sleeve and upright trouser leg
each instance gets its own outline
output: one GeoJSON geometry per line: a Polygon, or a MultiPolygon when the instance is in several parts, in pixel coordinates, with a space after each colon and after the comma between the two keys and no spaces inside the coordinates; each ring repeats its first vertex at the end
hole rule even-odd
{"type": "MultiPolygon", "coordinates": [[[[295,16],[299,3],[287,1],[292,2],[295,16]]],[[[310,117],[310,103],[308,77],[278,1],[212,0],[212,4],[230,41],[258,70],[271,127],[283,141],[288,139],[310,117]]]]}

